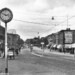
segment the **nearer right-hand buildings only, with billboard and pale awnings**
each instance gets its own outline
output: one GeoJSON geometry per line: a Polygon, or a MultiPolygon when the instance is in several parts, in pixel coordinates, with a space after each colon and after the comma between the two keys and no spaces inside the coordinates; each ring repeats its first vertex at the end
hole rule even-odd
{"type": "Polygon", "coordinates": [[[57,33],[52,33],[46,37],[48,39],[48,46],[52,46],[59,51],[73,52],[75,43],[75,30],[61,30],[57,33]]]}

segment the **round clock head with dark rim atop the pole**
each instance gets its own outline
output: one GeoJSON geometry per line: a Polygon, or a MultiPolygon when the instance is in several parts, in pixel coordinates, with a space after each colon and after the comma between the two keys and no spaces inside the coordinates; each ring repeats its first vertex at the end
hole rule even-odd
{"type": "Polygon", "coordinates": [[[3,8],[2,10],[0,10],[0,19],[7,23],[10,22],[13,18],[13,14],[12,11],[8,8],[3,8]]]}

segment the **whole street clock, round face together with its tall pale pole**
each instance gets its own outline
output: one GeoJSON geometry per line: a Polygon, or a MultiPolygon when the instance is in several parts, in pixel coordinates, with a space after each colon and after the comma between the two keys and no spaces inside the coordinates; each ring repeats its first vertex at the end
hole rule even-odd
{"type": "Polygon", "coordinates": [[[0,10],[0,19],[5,23],[5,73],[8,75],[8,58],[7,58],[7,23],[13,18],[12,11],[8,8],[0,10]]]}

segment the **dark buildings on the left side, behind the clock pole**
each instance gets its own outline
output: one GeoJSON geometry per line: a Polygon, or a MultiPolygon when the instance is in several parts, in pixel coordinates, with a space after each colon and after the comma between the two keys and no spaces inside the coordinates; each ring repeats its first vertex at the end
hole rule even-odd
{"type": "MultiPolygon", "coordinates": [[[[20,38],[20,35],[7,33],[8,48],[18,49],[24,41],[20,38]]],[[[5,51],[5,28],[0,25],[0,51],[5,51]]]]}

